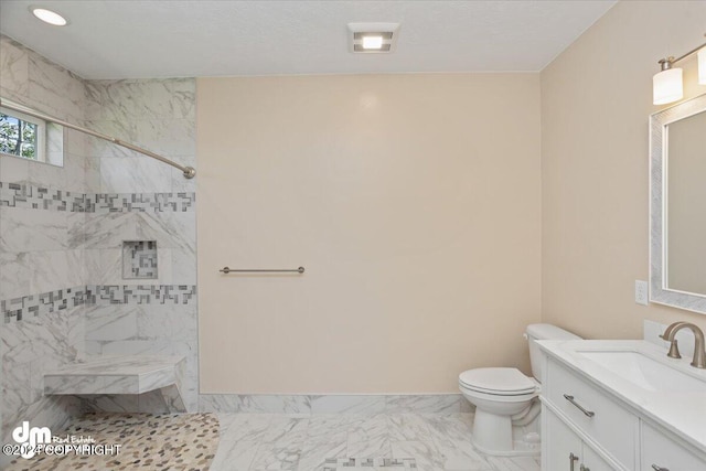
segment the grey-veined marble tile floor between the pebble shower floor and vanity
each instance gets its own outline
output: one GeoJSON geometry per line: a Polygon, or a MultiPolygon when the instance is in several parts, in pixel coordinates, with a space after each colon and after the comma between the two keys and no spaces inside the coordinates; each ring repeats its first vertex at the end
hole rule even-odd
{"type": "Polygon", "coordinates": [[[539,471],[538,458],[477,451],[472,417],[218,414],[221,442],[211,470],[539,471]]]}

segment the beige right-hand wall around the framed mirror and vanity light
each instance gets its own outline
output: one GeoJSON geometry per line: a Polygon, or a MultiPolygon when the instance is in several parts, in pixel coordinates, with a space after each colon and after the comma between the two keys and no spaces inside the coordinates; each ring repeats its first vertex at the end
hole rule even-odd
{"type": "MultiPolygon", "coordinates": [[[[706,2],[623,1],[542,72],[543,320],[588,338],[706,315],[634,303],[649,271],[649,116],[656,61],[704,41],[706,2]]],[[[687,97],[696,58],[684,63],[687,97]]]]}

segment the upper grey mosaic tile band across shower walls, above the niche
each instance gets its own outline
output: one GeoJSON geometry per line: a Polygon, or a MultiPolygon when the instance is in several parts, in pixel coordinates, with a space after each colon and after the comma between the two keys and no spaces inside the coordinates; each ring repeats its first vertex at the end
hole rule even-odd
{"type": "Polygon", "coordinates": [[[76,193],[25,183],[0,182],[0,206],[72,213],[192,212],[196,194],[76,193]]]}

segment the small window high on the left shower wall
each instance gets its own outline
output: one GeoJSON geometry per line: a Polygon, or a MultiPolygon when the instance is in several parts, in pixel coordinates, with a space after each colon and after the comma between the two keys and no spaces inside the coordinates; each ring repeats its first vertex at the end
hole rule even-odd
{"type": "Polygon", "coordinates": [[[46,122],[0,108],[0,152],[45,162],[46,122]]]}

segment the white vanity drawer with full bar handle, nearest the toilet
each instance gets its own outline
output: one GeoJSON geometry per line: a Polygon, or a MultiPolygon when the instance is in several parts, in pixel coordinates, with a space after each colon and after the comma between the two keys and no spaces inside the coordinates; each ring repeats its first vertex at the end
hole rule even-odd
{"type": "Polygon", "coordinates": [[[545,397],[620,464],[635,469],[638,417],[559,363],[549,360],[545,397]]]}

